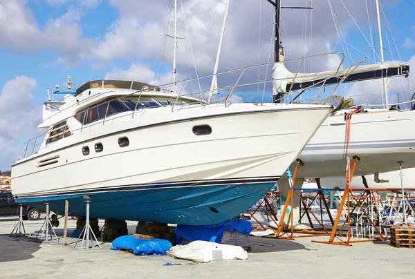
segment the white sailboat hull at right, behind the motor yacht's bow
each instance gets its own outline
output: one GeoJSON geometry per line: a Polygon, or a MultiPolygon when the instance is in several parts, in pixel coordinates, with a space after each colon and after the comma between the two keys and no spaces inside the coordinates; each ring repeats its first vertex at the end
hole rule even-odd
{"type": "MultiPolygon", "coordinates": [[[[297,177],[344,177],[345,125],[344,115],[331,116],[324,121],[308,142],[299,158],[297,177]]],[[[415,110],[380,110],[357,113],[351,117],[351,156],[361,160],[355,176],[384,173],[415,167],[415,110]]],[[[295,164],[291,165],[291,169],[295,164]]]]}

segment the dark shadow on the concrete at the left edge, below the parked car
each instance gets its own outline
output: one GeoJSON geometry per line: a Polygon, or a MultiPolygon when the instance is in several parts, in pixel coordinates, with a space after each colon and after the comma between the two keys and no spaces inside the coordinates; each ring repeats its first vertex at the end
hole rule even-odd
{"type": "Polygon", "coordinates": [[[32,238],[0,236],[0,247],[0,262],[13,262],[34,258],[33,253],[40,249],[40,244],[32,238]]]}

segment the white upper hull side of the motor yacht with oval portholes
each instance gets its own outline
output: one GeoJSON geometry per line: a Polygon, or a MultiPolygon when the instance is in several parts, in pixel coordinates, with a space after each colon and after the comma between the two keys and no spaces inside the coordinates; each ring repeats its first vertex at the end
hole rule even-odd
{"type": "Polygon", "coordinates": [[[158,182],[277,177],[328,113],[328,106],[215,104],[108,117],[104,125],[86,125],[16,162],[13,193],[29,198],[158,182]],[[210,135],[192,133],[204,124],[212,127],[210,135]],[[128,137],[129,146],[118,146],[120,137],[128,137]],[[100,153],[97,143],[104,146],[100,153]],[[82,155],[84,146],[89,155],[82,155]],[[56,163],[39,166],[57,156],[56,163]]]}

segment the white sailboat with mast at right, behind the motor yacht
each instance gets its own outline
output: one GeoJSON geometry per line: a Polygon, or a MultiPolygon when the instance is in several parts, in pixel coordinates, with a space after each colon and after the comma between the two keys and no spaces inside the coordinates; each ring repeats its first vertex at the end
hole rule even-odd
{"type": "MultiPolygon", "coordinates": [[[[377,10],[377,12],[379,11],[377,10]]],[[[378,28],[380,32],[379,17],[378,28]]],[[[385,81],[385,77],[407,77],[409,75],[409,66],[384,63],[381,42],[380,50],[380,64],[360,66],[353,72],[353,75],[349,76],[347,81],[371,78],[382,78],[385,81]],[[371,75],[365,73],[371,73],[371,75]]],[[[289,73],[281,65],[276,64],[277,73],[284,73],[287,77],[295,78],[299,86],[311,82],[289,73]]],[[[284,83],[277,84],[275,96],[285,93],[286,88],[288,86],[285,86],[284,83]]],[[[387,95],[385,98],[387,99],[387,95]]],[[[386,104],[385,108],[374,109],[371,106],[352,105],[349,108],[331,113],[299,155],[304,166],[298,169],[296,188],[301,187],[304,178],[345,177],[347,164],[345,114],[356,109],[360,110],[359,113],[351,117],[349,146],[350,154],[358,155],[361,158],[356,167],[355,176],[396,171],[400,168],[398,161],[405,162],[403,164],[405,168],[415,167],[415,131],[412,128],[415,125],[415,110],[391,110],[389,106],[386,104]]],[[[295,165],[296,162],[291,164],[291,169],[294,169],[295,165]]],[[[322,183],[324,183],[324,179],[322,183]]],[[[345,183],[346,180],[343,178],[343,187],[345,183]]],[[[286,196],[289,189],[286,177],[280,179],[278,185],[281,195],[286,196]]],[[[323,187],[331,186],[333,184],[323,184],[323,187]]],[[[299,204],[297,197],[295,197],[294,204],[299,204]]],[[[293,211],[293,213],[297,214],[297,211],[293,211]]],[[[297,218],[294,219],[297,220],[297,218]]]]}

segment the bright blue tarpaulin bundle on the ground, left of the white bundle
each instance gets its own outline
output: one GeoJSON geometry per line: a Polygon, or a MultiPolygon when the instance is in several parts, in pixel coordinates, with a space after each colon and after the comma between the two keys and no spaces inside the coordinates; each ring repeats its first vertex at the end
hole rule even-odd
{"type": "Polygon", "coordinates": [[[112,242],[111,250],[126,249],[134,255],[165,255],[166,250],[172,248],[172,243],[164,239],[144,240],[134,238],[133,235],[124,235],[112,242]]]}

